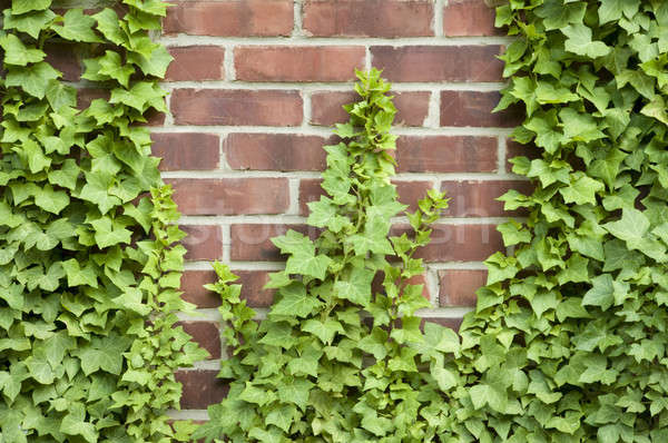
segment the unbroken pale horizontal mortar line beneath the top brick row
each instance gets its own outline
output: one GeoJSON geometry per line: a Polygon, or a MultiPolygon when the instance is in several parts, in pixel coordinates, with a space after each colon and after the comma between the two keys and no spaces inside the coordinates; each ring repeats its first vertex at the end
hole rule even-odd
{"type": "Polygon", "coordinates": [[[381,37],[210,37],[210,36],[163,36],[157,42],[167,46],[193,46],[193,45],[236,45],[236,46],[498,46],[509,45],[515,39],[512,37],[403,37],[401,39],[381,37]]]}

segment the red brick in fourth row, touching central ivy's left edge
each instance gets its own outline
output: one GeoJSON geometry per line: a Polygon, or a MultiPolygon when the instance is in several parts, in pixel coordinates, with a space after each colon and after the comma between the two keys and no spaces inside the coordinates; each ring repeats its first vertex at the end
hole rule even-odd
{"type": "Polygon", "coordinates": [[[223,144],[233,169],[323,170],[325,139],[293,134],[230,134],[223,144]]]}

